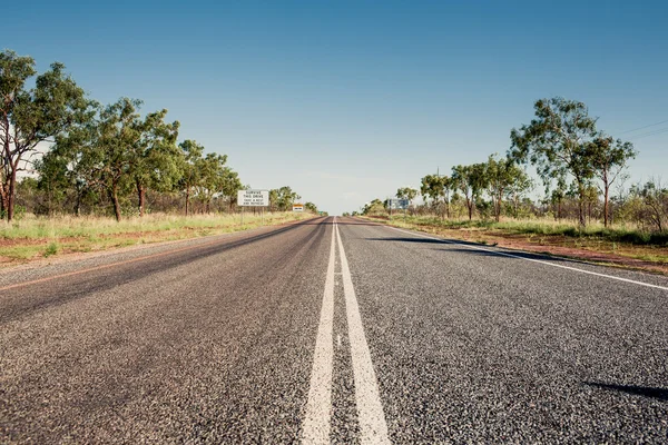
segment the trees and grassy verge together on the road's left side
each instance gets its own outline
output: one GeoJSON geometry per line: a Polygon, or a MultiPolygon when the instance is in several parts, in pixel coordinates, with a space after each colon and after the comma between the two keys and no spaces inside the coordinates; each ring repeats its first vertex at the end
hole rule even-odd
{"type": "Polygon", "coordinates": [[[248,208],[249,189],[226,155],[179,135],[167,110],[139,99],[101,105],[65,66],[39,73],[31,57],[0,52],[0,263],[281,224],[301,196],[269,190],[248,208]],[[266,210],[266,211],[265,211],[266,210]]]}

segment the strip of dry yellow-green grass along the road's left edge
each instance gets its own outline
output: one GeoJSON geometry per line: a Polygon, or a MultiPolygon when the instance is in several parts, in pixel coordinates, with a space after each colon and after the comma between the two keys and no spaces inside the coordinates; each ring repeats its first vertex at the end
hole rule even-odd
{"type": "Polygon", "coordinates": [[[137,244],[195,238],[307,219],[311,214],[274,212],[178,216],[153,214],[117,222],[104,217],[26,216],[0,222],[0,263],[12,264],[68,253],[95,251],[137,244]]]}

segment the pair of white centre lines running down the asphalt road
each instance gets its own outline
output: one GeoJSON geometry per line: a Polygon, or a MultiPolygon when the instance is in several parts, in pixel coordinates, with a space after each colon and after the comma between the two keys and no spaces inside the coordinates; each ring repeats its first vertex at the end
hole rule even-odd
{"type": "Polygon", "coordinates": [[[351,342],[353,376],[355,379],[355,403],[360,423],[360,442],[362,444],[390,444],[387,424],[379,395],[371,353],[362,327],[362,317],[357,306],[357,297],[353,288],[351,270],[341,241],[338,225],[334,218],[330,264],[325,279],[323,308],[315,342],[311,388],[306,404],[306,416],[302,432],[305,444],[330,444],[332,421],[332,368],[334,362],[334,269],[336,264],[336,241],[341,257],[341,275],[345,295],[345,309],[351,342]]]}

